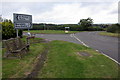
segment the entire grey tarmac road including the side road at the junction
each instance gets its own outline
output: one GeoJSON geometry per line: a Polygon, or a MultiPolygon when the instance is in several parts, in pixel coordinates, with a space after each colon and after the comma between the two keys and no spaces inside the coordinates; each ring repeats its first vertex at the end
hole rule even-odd
{"type": "Polygon", "coordinates": [[[118,38],[101,36],[98,33],[99,31],[80,32],[76,34],[36,34],[36,37],[83,44],[101,52],[116,62],[120,62],[118,59],[118,38]]]}

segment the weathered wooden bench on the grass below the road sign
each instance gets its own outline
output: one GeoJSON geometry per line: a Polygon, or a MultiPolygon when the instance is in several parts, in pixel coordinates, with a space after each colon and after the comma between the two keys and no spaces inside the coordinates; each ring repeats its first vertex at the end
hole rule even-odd
{"type": "Polygon", "coordinates": [[[29,44],[24,43],[19,37],[4,40],[4,44],[7,50],[5,54],[6,57],[13,54],[21,58],[23,53],[29,51],[29,44]]]}

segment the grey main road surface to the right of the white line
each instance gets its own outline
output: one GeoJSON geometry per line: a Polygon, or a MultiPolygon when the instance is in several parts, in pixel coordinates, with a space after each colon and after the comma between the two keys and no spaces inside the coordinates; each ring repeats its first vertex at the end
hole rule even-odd
{"type": "Polygon", "coordinates": [[[87,46],[109,56],[120,63],[118,56],[118,43],[117,37],[101,36],[99,32],[81,32],[76,33],[75,37],[84,42],[87,46]]]}

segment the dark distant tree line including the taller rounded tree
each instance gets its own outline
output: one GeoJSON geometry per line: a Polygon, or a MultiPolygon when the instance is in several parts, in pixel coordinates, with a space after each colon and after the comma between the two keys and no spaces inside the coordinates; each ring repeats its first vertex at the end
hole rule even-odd
{"type": "Polygon", "coordinates": [[[70,31],[101,31],[101,26],[94,26],[93,19],[81,19],[78,24],[33,24],[31,30],[65,30],[65,27],[70,27],[70,31]]]}

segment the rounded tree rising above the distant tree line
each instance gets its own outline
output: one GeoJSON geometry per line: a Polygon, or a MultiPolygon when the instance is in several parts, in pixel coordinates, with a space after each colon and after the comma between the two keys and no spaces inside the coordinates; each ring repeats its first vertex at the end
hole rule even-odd
{"type": "Polygon", "coordinates": [[[83,27],[84,30],[88,30],[88,28],[93,24],[93,19],[91,18],[81,19],[78,22],[78,24],[81,25],[81,27],[83,27]]]}

